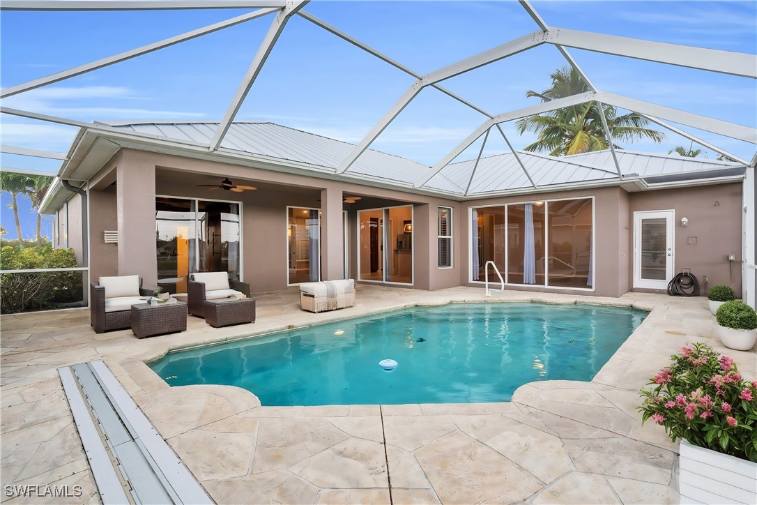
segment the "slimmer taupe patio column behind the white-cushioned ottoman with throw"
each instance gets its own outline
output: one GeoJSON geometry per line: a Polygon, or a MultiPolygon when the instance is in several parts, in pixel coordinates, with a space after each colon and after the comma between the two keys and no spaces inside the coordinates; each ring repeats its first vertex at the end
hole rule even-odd
{"type": "Polygon", "coordinates": [[[341,189],[321,190],[321,278],[344,279],[344,214],[341,189]]]}

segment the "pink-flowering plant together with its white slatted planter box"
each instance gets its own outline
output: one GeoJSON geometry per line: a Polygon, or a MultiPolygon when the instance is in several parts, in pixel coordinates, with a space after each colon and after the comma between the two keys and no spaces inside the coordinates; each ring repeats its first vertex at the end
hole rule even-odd
{"type": "Polygon", "coordinates": [[[685,345],[642,388],[642,422],[681,438],[681,503],[757,503],[757,381],[706,344],[685,345]]]}

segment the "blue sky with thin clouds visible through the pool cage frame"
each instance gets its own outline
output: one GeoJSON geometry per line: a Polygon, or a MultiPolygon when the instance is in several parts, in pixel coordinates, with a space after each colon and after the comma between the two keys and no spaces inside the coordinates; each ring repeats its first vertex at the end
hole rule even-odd
{"type": "MultiPolygon", "coordinates": [[[[757,53],[757,2],[534,2],[550,26],[684,45],[757,53]]],[[[306,10],[419,73],[525,35],[537,26],[517,2],[320,2],[306,10]]],[[[241,10],[2,12],[2,87],[65,70],[243,14],[241,10]]],[[[219,120],[273,17],[267,16],[95,72],[8,98],[8,107],[76,120],[219,120]]],[[[598,88],[722,120],[757,126],[752,79],[571,50],[598,88]]],[[[549,86],[565,60],[540,46],[457,76],[444,86],[499,114],[536,103],[528,89],[549,86]]],[[[413,77],[294,17],[285,28],[238,120],[269,120],[347,142],[363,135],[413,77]]],[[[425,89],[372,145],[435,164],[479,126],[481,114],[425,89]]],[[[505,125],[522,148],[531,136],[505,125]]],[[[751,158],[755,148],[690,132],[751,158]]],[[[67,151],[76,129],[2,117],[2,143],[67,151]]],[[[506,151],[491,136],[484,154],[506,151]]],[[[667,152],[689,142],[668,134],[667,152]]],[[[463,157],[473,157],[479,145],[463,157]],[[474,152],[475,151],[475,152],[474,152]]],[[[710,153],[709,157],[715,157],[710,153]]],[[[3,167],[54,171],[59,162],[4,155],[3,167]]],[[[5,222],[5,221],[4,221],[5,222]]],[[[8,228],[8,226],[6,226],[8,228]]]]}

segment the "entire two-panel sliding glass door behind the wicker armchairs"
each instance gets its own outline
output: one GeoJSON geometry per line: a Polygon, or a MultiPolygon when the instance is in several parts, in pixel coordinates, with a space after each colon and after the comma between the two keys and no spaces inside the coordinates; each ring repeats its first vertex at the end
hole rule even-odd
{"type": "Polygon", "coordinates": [[[194,272],[228,272],[241,278],[241,204],[155,198],[157,283],[185,293],[194,272]]]}

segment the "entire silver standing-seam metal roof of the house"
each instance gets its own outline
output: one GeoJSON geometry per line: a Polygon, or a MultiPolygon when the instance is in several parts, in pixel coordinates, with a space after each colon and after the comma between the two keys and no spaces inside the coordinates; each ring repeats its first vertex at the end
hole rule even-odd
{"type": "MultiPolygon", "coordinates": [[[[213,138],[219,123],[185,121],[104,124],[124,131],[207,144],[213,138]]],[[[276,123],[244,121],[232,123],[220,147],[335,170],[354,145],[276,123]]],[[[640,177],[740,166],[727,161],[685,158],[674,154],[622,150],[615,152],[622,173],[636,173],[640,177]]],[[[610,151],[594,151],[566,157],[528,151],[518,151],[518,154],[531,179],[540,187],[618,178],[610,151]]],[[[468,189],[469,196],[532,187],[528,176],[512,153],[481,157],[471,179],[474,166],[475,159],[448,164],[423,187],[455,195],[466,195],[468,189]]],[[[427,166],[416,161],[366,149],[347,173],[412,184],[422,177],[426,170],[427,166]]]]}

